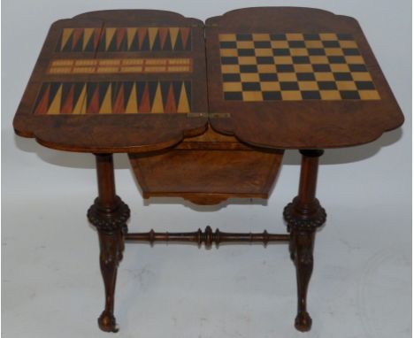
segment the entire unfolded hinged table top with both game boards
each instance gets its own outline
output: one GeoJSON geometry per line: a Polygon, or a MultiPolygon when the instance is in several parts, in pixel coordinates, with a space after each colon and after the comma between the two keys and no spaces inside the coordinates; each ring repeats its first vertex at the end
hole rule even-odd
{"type": "Polygon", "coordinates": [[[204,27],[132,10],[54,23],[14,127],[55,149],[138,152],[209,121],[260,147],[325,149],[371,142],[403,114],[355,19],[250,8],[204,27]]]}

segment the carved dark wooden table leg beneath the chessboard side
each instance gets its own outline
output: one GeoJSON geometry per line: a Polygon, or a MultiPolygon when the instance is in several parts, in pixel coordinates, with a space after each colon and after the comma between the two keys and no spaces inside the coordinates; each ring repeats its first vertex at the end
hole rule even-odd
{"type": "Polygon", "coordinates": [[[288,222],[290,255],[296,265],[297,316],[295,327],[305,332],[311,330],[312,319],[307,311],[306,296],[313,270],[313,245],[315,231],[326,220],[326,212],[315,198],[318,178],[318,157],[323,150],[301,150],[302,166],[299,194],[283,211],[288,222]]]}

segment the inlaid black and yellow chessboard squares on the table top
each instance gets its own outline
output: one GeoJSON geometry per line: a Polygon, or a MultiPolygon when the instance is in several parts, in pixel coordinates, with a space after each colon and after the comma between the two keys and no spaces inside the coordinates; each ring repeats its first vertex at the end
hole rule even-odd
{"type": "Polygon", "coordinates": [[[349,34],[220,34],[225,100],[379,100],[349,34]]]}

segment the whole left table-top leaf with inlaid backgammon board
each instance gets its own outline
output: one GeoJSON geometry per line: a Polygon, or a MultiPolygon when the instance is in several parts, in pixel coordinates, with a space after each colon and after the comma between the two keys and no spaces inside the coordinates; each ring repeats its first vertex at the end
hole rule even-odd
{"type": "Polygon", "coordinates": [[[58,150],[140,152],[202,134],[203,22],[164,11],[103,11],[50,27],[13,121],[58,150]],[[196,66],[193,66],[196,65],[196,66]]]}

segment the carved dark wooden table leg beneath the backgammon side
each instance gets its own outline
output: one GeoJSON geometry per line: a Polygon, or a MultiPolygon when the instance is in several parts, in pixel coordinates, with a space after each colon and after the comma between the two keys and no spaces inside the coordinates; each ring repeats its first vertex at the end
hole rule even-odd
{"type": "Polygon", "coordinates": [[[124,234],[129,208],[115,194],[113,160],[111,154],[96,155],[98,197],[88,210],[88,219],[99,235],[99,257],[105,287],[105,309],[98,319],[99,327],[106,332],[117,332],[113,315],[115,283],[119,261],[124,251],[124,234]]]}

